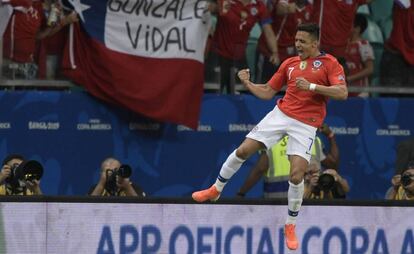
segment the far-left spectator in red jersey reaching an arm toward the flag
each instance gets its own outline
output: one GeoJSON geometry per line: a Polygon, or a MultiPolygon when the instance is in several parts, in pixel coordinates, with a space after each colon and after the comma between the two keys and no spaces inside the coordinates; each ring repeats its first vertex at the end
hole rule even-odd
{"type": "MultiPolygon", "coordinates": [[[[18,1],[20,3],[20,1],[18,1]]],[[[27,1],[21,1],[26,3],[27,1]]],[[[74,22],[76,14],[60,17],[57,4],[46,1],[29,1],[31,6],[14,6],[13,14],[3,36],[4,74],[9,78],[34,79],[39,40],[58,32],[64,25],[74,22]],[[49,15],[46,16],[45,12],[49,15]],[[50,20],[53,15],[57,20],[50,20]]]]}

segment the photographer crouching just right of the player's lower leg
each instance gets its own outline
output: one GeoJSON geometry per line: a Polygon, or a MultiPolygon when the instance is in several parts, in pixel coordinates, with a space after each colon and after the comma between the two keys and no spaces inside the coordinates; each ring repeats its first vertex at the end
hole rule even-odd
{"type": "Polygon", "coordinates": [[[335,169],[326,169],[320,173],[317,163],[311,161],[305,174],[305,192],[308,199],[345,199],[349,185],[335,169]]]}

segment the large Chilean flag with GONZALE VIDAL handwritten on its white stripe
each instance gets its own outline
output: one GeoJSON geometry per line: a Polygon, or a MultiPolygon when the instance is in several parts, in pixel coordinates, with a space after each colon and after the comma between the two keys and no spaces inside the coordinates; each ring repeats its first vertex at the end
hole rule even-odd
{"type": "Polygon", "coordinates": [[[196,128],[204,88],[207,0],[68,0],[64,73],[92,95],[196,128]]]}

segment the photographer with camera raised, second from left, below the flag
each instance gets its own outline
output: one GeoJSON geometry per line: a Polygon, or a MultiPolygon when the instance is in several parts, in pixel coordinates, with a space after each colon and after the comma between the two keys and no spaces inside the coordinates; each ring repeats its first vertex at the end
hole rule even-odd
{"type": "Polygon", "coordinates": [[[129,180],[132,171],[117,159],[109,157],[101,164],[101,177],[91,188],[91,196],[131,196],[145,197],[145,192],[129,180]]]}

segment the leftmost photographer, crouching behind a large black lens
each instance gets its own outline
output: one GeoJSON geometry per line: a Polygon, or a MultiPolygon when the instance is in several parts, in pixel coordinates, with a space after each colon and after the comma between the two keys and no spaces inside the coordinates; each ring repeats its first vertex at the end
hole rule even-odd
{"type": "Polygon", "coordinates": [[[26,161],[19,154],[8,155],[0,172],[0,195],[41,195],[42,174],[40,163],[26,161]]]}

